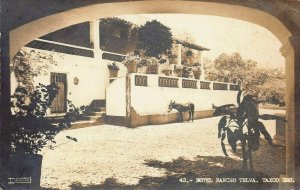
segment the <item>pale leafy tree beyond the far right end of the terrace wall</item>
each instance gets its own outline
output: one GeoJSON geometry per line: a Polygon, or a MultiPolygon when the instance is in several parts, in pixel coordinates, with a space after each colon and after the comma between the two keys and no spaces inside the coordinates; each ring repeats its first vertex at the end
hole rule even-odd
{"type": "Polygon", "coordinates": [[[284,105],[284,74],[279,69],[259,68],[255,61],[244,60],[238,53],[222,53],[213,63],[206,65],[206,72],[210,80],[237,80],[245,94],[284,105]],[[276,85],[275,81],[283,86],[276,85]]]}

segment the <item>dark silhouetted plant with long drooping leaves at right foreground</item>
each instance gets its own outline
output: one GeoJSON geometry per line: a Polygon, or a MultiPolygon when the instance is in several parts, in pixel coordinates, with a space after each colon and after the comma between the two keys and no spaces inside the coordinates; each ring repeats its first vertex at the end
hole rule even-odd
{"type": "Polygon", "coordinates": [[[214,116],[223,116],[218,124],[218,138],[221,138],[223,153],[228,156],[224,140],[234,153],[237,146],[242,146],[243,170],[253,171],[252,152],[257,151],[260,145],[260,136],[263,135],[271,146],[272,137],[260,120],[286,120],[280,116],[271,114],[259,114],[258,104],[263,102],[252,95],[244,96],[241,100],[242,91],[237,94],[238,107],[234,104],[226,104],[215,108],[214,116]],[[240,143],[238,143],[238,141],[240,143]]]}

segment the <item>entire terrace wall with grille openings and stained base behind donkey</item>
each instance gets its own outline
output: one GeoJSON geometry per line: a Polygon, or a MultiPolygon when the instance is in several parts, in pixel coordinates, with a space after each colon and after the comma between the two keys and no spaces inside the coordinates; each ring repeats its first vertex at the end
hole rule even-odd
{"type": "MultiPolygon", "coordinates": [[[[116,79],[107,89],[107,123],[137,127],[142,125],[164,124],[179,121],[179,113],[172,110],[168,113],[169,103],[194,103],[194,118],[211,117],[214,106],[224,104],[236,104],[236,96],[239,86],[231,83],[201,81],[171,76],[159,76],[151,74],[128,74],[126,77],[116,79]],[[124,88],[118,88],[117,84],[123,81],[124,88]],[[122,89],[122,91],[120,90],[122,89]],[[120,110],[110,108],[116,106],[116,96],[110,96],[118,91],[118,95],[124,101],[119,105],[120,110]],[[117,122],[116,122],[117,121],[117,122]],[[120,122],[122,121],[122,122],[120,122]]],[[[116,101],[120,101],[117,98],[116,101]]],[[[188,113],[184,113],[184,120],[188,119],[188,113]]]]}

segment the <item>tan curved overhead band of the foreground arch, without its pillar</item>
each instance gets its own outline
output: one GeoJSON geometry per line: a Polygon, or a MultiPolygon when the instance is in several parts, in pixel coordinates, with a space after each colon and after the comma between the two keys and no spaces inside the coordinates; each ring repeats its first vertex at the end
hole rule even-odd
{"type": "Polygon", "coordinates": [[[186,13],[235,18],[271,31],[285,46],[291,33],[274,16],[263,11],[225,3],[197,1],[137,1],[103,3],[50,15],[10,31],[10,57],[28,42],[67,26],[123,14],[186,13]],[[193,9],[191,9],[193,7],[193,9]],[[236,11],[239,10],[239,11],[236,11]],[[63,19],[61,19],[63,18],[63,19]]]}

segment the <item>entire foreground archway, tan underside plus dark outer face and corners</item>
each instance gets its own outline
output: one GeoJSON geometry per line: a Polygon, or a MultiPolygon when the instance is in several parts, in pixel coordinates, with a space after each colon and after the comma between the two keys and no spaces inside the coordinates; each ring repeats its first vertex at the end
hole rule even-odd
{"type": "Polygon", "coordinates": [[[31,40],[70,25],[130,13],[188,13],[236,18],[270,30],[282,43],[287,76],[287,175],[300,176],[300,3],[215,0],[7,1],[2,9],[1,124],[9,123],[9,60],[31,40]],[[193,8],[191,8],[193,7],[193,8]],[[28,11],[28,9],[32,9],[28,11]],[[26,10],[26,11],[24,11],[26,10]],[[88,13],[88,14],[87,14],[88,13]],[[296,168],[296,169],[295,169],[296,168]]]}

